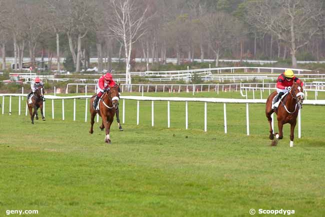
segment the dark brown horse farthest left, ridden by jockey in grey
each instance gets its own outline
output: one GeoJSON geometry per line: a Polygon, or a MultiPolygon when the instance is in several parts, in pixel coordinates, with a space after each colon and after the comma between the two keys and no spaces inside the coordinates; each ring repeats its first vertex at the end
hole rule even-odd
{"type": "Polygon", "coordinates": [[[37,109],[40,109],[40,114],[42,115],[42,120],[45,120],[45,117],[43,115],[43,92],[44,88],[43,86],[38,86],[35,92],[33,93],[33,96],[31,98],[31,104],[28,103],[28,98],[27,98],[27,105],[28,105],[28,110],[30,114],[30,120],[31,123],[34,124],[34,116],[36,116],[36,120],[38,120],[38,114],[37,114],[37,109]],[[34,109],[34,112],[32,112],[32,109],[34,109]]]}

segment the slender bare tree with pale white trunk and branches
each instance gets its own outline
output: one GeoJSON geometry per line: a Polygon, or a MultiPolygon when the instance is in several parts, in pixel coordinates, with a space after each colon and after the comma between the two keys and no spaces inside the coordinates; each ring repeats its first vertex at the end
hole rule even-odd
{"type": "MultiPolygon", "coordinates": [[[[132,44],[141,36],[146,34],[145,23],[150,19],[147,15],[147,7],[139,5],[139,1],[132,0],[110,0],[109,20],[107,27],[109,33],[124,46],[125,52],[125,83],[131,84],[130,58],[132,44]]],[[[107,16],[108,17],[108,16],[107,16]]]]}

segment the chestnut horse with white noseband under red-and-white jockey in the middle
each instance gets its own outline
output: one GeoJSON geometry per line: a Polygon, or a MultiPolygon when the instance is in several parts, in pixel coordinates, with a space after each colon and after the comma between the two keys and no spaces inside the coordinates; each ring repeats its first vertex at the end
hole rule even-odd
{"type": "Polygon", "coordinates": [[[99,105],[99,111],[95,110],[92,106],[93,102],[93,97],[96,95],[92,96],[90,99],[90,130],[89,133],[93,133],[93,123],[94,123],[94,118],[96,116],[96,113],[101,117],[102,122],[101,126],[99,127],[101,130],[106,128],[106,136],[105,136],[105,142],[110,143],[110,138],[109,138],[109,128],[111,123],[113,122],[115,112],[118,107],[118,85],[110,88],[110,90],[104,90],[104,94],[102,95],[101,99],[98,102],[99,105]]]}

